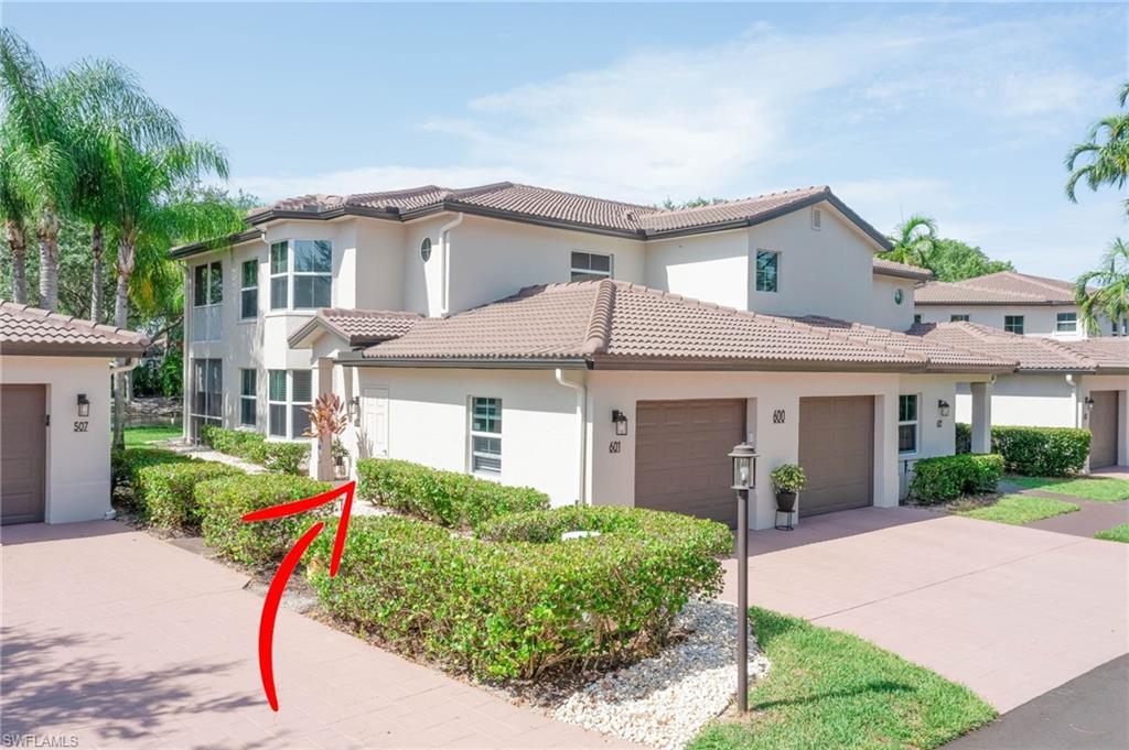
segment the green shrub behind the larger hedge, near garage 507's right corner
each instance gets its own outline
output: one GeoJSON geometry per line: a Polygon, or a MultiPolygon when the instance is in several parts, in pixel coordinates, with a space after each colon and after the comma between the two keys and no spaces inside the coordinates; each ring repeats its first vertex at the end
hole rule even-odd
{"type": "Polygon", "coordinates": [[[193,489],[198,482],[243,474],[216,461],[146,466],[137,471],[134,500],[141,518],[163,529],[194,527],[200,522],[193,489]]]}

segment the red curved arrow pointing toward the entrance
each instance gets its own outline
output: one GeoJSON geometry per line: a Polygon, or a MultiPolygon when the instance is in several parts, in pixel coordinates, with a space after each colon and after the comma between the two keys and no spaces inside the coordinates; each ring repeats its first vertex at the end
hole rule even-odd
{"type": "MultiPolygon", "coordinates": [[[[352,511],[352,497],[356,488],[357,483],[350,482],[313,497],[282,503],[281,505],[271,505],[270,508],[247,513],[243,517],[243,521],[245,523],[253,523],[255,521],[268,521],[305,513],[320,505],[332,503],[341,495],[344,495],[345,501],[341,505],[341,521],[338,523],[338,533],[333,539],[333,556],[330,558],[330,577],[333,577],[338,574],[338,568],[341,566],[341,554],[345,548],[345,533],[349,531],[349,514],[352,511]]],[[[282,592],[286,591],[286,584],[294,574],[294,570],[298,566],[298,561],[306,554],[309,545],[314,541],[314,537],[324,528],[325,522],[318,521],[309,527],[298,541],[294,542],[294,547],[290,548],[290,552],[279,563],[279,570],[274,572],[271,585],[266,589],[266,598],[263,600],[263,615],[259,620],[259,674],[263,680],[263,692],[266,694],[266,703],[275,712],[279,709],[279,699],[274,690],[274,620],[278,617],[279,605],[282,603],[282,592]]]]}

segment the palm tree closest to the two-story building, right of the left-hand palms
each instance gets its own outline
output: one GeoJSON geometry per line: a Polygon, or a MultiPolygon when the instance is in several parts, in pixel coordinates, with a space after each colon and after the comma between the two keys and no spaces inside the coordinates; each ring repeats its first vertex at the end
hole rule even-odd
{"type": "MultiPolygon", "coordinates": [[[[163,275],[175,273],[167,256],[169,247],[181,241],[225,237],[242,228],[243,218],[230,204],[200,196],[194,189],[204,175],[225,179],[228,176],[227,158],[212,143],[181,141],[143,149],[115,140],[110,143],[110,157],[113,219],[108,227],[117,245],[114,323],[126,327],[131,282],[159,282],[163,275]],[[145,273],[137,281],[134,274],[139,268],[145,273]]],[[[115,392],[114,444],[120,447],[124,444],[124,373],[115,378],[115,392]]]]}

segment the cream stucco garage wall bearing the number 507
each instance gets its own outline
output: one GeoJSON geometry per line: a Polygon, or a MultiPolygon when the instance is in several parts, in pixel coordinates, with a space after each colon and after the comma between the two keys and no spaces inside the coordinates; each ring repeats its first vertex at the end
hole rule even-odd
{"type": "Polygon", "coordinates": [[[93,521],[110,512],[110,360],[98,356],[0,356],[0,382],[47,387],[47,523],[93,521]],[[90,400],[77,432],[78,395],[90,400]]]}

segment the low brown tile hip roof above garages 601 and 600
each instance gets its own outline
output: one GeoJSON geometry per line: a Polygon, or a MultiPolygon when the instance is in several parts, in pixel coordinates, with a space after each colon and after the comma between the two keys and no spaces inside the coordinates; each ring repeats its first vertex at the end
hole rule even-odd
{"type": "Polygon", "coordinates": [[[951,370],[960,361],[969,371],[1012,369],[943,345],[910,351],[905,342],[878,338],[602,280],[530,286],[449,318],[423,319],[404,336],[368,347],[362,360],[895,372],[951,370]],[[933,361],[938,355],[944,362],[933,361]]]}

